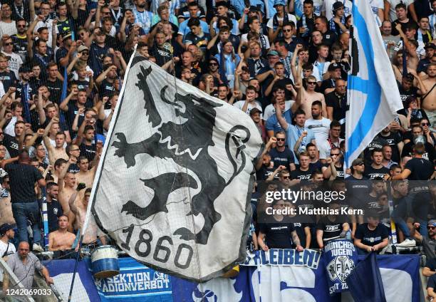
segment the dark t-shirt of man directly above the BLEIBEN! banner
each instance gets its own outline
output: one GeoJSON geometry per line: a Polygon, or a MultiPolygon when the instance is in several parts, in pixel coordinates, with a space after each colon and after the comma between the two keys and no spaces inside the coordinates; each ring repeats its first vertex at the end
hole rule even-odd
{"type": "Polygon", "coordinates": [[[269,249],[292,249],[291,233],[295,231],[294,224],[261,224],[260,231],[265,234],[266,245],[269,249]]]}

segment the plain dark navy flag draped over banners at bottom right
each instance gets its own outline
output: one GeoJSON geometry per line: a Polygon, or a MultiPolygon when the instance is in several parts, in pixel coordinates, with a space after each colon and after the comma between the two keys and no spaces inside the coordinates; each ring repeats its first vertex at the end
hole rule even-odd
{"type": "Polygon", "coordinates": [[[347,278],[355,302],[386,302],[385,290],[375,253],[360,261],[347,278]]]}

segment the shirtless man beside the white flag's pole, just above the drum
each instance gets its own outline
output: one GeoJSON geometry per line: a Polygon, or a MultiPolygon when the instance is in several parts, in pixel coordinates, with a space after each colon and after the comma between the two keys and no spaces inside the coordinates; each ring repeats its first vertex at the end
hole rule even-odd
{"type": "MultiPolygon", "coordinates": [[[[85,223],[86,217],[86,209],[88,208],[88,202],[91,192],[91,188],[85,189],[83,197],[77,198],[78,194],[81,194],[82,189],[85,189],[85,184],[83,184],[83,182],[78,184],[76,192],[71,195],[68,201],[71,211],[76,215],[76,229],[83,229],[83,224],[85,223]]],[[[99,234],[97,225],[95,224],[95,221],[93,220],[91,215],[91,219],[89,221],[88,228],[86,229],[86,233],[83,234],[83,244],[94,243],[95,241],[97,241],[97,235],[99,235],[101,243],[105,245],[106,238],[105,236],[103,236],[103,234],[99,234]]]]}

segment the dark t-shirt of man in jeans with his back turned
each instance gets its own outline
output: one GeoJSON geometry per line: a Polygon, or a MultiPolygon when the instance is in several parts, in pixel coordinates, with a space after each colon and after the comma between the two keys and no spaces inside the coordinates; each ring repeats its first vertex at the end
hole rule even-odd
{"type": "Polygon", "coordinates": [[[9,175],[11,202],[36,201],[35,182],[43,178],[36,167],[24,164],[7,164],[4,170],[9,175]]]}

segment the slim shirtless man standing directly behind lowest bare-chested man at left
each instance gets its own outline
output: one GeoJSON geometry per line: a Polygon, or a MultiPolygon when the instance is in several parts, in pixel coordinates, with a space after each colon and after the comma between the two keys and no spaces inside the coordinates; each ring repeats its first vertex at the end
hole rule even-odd
{"type": "Polygon", "coordinates": [[[70,224],[68,225],[68,231],[73,231],[74,224],[74,213],[70,211],[70,205],[68,204],[68,200],[70,200],[71,195],[76,192],[76,175],[68,172],[68,167],[70,165],[76,163],[76,159],[71,157],[68,160],[67,165],[62,170],[61,175],[59,175],[58,179],[58,201],[61,202],[63,213],[68,216],[70,224]]]}

